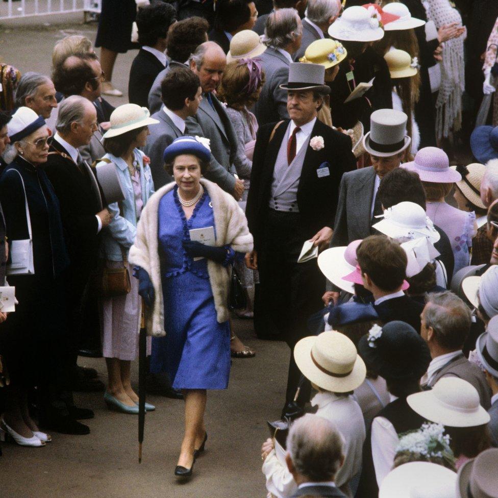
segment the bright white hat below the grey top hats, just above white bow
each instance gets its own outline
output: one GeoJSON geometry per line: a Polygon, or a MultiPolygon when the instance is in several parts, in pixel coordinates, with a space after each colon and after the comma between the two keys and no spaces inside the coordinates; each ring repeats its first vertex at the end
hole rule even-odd
{"type": "Polygon", "coordinates": [[[429,237],[435,243],[440,238],[424,208],[412,202],[404,201],[391,206],[379,218],[383,219],[372,225],[372,228],[391,239],[429,237]]]}

